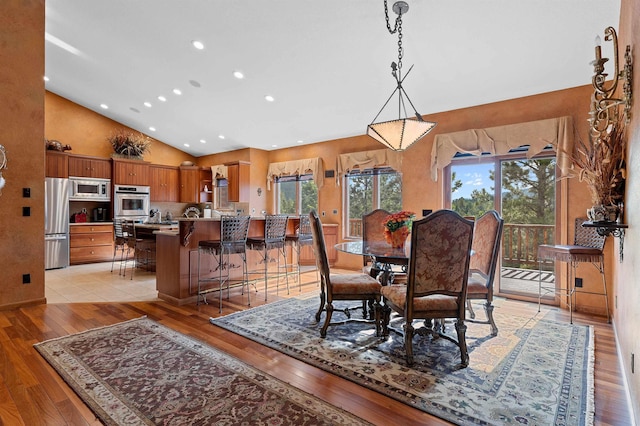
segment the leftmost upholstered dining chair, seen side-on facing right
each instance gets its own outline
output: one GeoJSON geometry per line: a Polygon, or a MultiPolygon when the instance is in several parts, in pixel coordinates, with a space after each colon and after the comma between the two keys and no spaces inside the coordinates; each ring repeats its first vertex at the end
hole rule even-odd
{"type": "MultiPolygon", "coordinates": [[[[332,325],[333,302],[337,300],[360,300],[363,302],[373,300],[374,323],[376,326],[376,335],[379,336],[382,314],[380,288],[382,285],[380,285],[375,278],[364,273],[332,274],[329,269],[324,233],[318,213],[312,210],[311,213],[309,213],[309,219],[311,222],[311,233],[313,234],[313,245],[317,256],[318,269],[320,270],[320,308],[316,313],[316,321],[320,322],[322,311],[326,311],[320,336],[326,337],[327,329],[329,325],[332,325]]],[[[347,316],[351,321],[364,321],[350,318],[350,315],[347,316]]]]}

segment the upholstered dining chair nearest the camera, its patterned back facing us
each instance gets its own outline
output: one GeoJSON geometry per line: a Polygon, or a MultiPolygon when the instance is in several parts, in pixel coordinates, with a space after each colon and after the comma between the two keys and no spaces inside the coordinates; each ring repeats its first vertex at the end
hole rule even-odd
{"type": "Polygon", "coordinates": [[[458,345],[462,365],[469,364],[464,321],[472,239],[473,222],[452,210],[438,210],[413,222],[407,285],[381,289],[385,304],[383,334],[388,334],[392,310],[404,318],[408,365],[413,365],[414,320],[446,318],[456,320],[457,340],[436,327],[422,331],[458,345]]]}

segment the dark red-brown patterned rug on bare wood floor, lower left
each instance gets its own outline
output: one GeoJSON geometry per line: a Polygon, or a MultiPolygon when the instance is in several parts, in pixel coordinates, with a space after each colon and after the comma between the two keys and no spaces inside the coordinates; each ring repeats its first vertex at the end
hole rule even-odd
{"type": "Polygon", "coordinates": [[[368,424],[147,318],[35,347],[107,425],[368,424]]]}

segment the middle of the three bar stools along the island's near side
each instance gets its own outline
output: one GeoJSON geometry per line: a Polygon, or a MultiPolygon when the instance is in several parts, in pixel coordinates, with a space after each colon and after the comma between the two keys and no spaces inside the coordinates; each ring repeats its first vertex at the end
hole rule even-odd
{"type": "MultiPolygon", "coordinates": [[[[278,294],[278,287],[280,285],[280,254],[284,258],[284,265],[287,265],[287,253],[285,251],[285,237],[287,234],[287,222],[289,216],[283,214],[267,215],[264,222],[264,237],[251,237],[247,238],[247,247],[249,250],[257,251],[261,256],[261,261],[264,262],[263,272],[250,272],[251,274],[264,273],[264,300],[267,300],[267,286],[269,283],[269,250],[277,249],[278,254],[278,273],[276,281],[276,294],[278,294]]],[[[284,274],[287,282],[287,294],[289,294],[289,275],[284,274]]]]}

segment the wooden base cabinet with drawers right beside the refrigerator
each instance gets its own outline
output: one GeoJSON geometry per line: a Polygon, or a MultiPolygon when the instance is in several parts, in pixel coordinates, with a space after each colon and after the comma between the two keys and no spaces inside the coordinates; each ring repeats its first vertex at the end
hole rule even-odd
{"type": "Polygon", "coordinates": [[[113,259],[113,224],[69,225],[69,263],[107,262],[113,259]]]}

